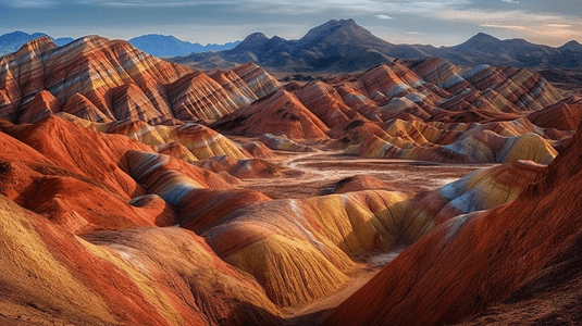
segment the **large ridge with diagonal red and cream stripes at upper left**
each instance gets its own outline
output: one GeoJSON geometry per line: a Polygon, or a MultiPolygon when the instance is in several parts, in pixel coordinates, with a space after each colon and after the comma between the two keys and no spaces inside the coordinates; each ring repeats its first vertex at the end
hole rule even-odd
{"type": "Polygon", "coordinates": [[[44,37],[0,61],[0,116],[34,122],[44,109],[60,111],[47,95],[34,101],[47,91],[62,111],[92,122],[218,118],[281,88],[253,64],[213,77],[122,40],[88,36],[58,48],[44,37]]]}

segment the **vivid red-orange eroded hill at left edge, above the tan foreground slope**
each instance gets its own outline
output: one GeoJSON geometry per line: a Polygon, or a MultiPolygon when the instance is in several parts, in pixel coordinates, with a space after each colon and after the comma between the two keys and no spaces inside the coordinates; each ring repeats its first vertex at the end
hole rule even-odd
{"type": "MultiPolygon", "coordinates": [[[[126,152],[159,155],[140,142],[59,117],[4,130],[12,137],[0,133],[0,160],[5,164],[0,190],[23,208],[75,234],[176,223],[160,199],[132,201],[146,190],[127,174],[134,163],[126,152]]],[[[220,176],[184,161],[169,158],[166,166],[206,187],[231,188],[220,176]]]]}

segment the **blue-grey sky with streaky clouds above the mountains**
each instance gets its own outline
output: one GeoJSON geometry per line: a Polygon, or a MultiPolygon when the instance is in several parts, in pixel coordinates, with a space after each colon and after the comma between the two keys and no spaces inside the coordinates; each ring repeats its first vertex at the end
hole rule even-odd
{"type": "Polygon", "coordinates": [[[582,42],[582,0],[1,0],[0,35],[78,38],[174,35],[202,45],[255,32],[297,39],[354,18],[393,43],[458,45],[479,32],[561,46],[582,42]]]}

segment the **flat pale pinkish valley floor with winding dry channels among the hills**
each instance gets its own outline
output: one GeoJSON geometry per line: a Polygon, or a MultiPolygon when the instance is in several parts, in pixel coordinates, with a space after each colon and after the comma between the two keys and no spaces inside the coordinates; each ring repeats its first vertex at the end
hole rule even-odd
{"type": "Polygon", "coordinates": [[[387,181],[392,189],[420,193],[446,184],[480,168],[494,164],[439,164],[397,159],[362,159],[342,154],[342,151],[320,149],[310,153],[274,151],[270,160],[282,167],[273,178],[246,179],[240,187],[253,189],[273,198],[305,198],[321,195],[325,187],[351,176],[367,175],[387,181]]]}

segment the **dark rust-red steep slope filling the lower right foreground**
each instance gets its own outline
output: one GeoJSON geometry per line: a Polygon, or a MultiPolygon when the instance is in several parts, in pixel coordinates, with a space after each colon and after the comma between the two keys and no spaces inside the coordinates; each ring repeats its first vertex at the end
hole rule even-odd
{"type": "Polygon", "coordinates": [[[497,313],[515,317],[511,309],[528,324],[567,313],[580,300],[565,286],[579,284],[581,275],[581,152],[579,129],[516,201],[441,225],[342,303],[327,325],[451,324],[503,302],[503,310],[478,321],[499,322],[497,313]],[[546,304],[558,297],[556,305],[546,304]]]}

